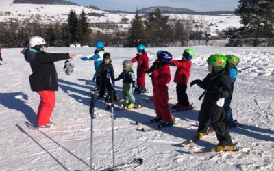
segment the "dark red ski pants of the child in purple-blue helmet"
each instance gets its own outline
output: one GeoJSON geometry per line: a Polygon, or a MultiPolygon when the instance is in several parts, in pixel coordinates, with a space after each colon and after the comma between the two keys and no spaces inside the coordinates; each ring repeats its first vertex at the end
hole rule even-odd
{"type": "Polygon", "coordinates": [[[169,122],[172,120],[171,111],[169,110],[169,92],[167,86],[153,89],[153,103],[156,114],[162,120],[169,122]]]}

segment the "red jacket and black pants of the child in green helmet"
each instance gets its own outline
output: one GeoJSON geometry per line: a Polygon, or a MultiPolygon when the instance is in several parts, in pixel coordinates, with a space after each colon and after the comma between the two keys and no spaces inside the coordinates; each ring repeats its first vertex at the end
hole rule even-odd
{"type": "Polygon", "coordinates": [[[190,77],[190,68],[192,65],[191,60],[171,60],[171,66],[177,66],[177,70],[174,76],[174,82],[176,85],[177,101],[180,105],[190,106],[188,101],[188,94],[186,94],[186,88],[188,79],[190,77]]]}

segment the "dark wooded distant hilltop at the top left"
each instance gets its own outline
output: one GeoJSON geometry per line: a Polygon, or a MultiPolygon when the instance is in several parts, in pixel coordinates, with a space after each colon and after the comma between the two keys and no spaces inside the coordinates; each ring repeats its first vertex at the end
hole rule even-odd
{"type": "Polygon", "coordinates": [[[43,5],[77,5],[66,0],[14,0],[13,3],[29,3],[29,4],[43,4],[43,5]]]}

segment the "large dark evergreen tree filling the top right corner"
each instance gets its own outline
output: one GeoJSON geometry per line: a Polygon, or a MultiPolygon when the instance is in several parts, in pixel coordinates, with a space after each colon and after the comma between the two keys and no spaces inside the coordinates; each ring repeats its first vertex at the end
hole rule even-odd
{"type": "Polygon", "coordinates": [[[240,14],[242,34],[252,40],[254,47],[260,44],[258,38],[274,36],[274,2],[273,0],[240,0],[236,13],[240,14]]]}

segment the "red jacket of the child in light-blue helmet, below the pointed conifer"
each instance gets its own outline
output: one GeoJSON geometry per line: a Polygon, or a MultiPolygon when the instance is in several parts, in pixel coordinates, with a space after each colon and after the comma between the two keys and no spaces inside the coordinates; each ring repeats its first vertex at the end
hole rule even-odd
{"type": "Polygon", "coordinates": [[[132,58],[132,63],[134,62],[138,62],[137,75],[142,75],[149,69],[149,57],[147,57],[147,53],[143,53],[142,55],[137,54],[136,57],[132,58]]]}

